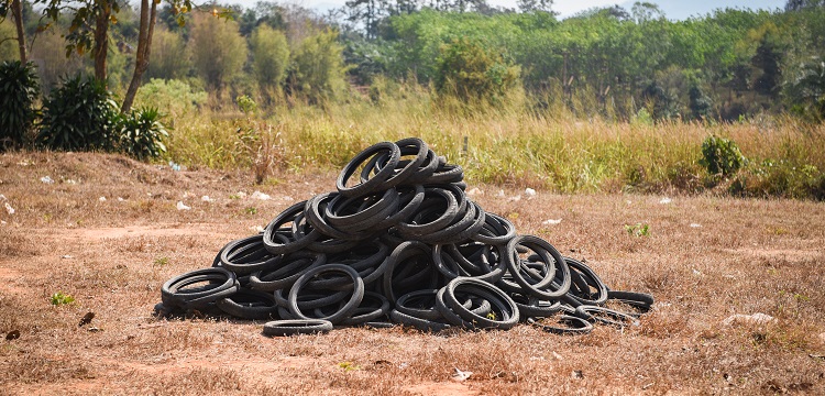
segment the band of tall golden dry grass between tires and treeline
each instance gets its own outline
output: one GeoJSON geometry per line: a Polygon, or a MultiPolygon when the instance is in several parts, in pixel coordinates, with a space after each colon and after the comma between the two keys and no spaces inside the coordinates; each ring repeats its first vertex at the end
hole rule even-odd
{"type": "MultiPolygon", "coordinates": [[[[739,193],[807,197],[817,188],[825,190],[825,153],[817,150],[825,146],[825,129],[791,118],[612,122],[579,119],[560,109],[537,114],[524,110],[518,100],[473,110],[421,88],[387,90],[392,92],[372,92],[376,100],[365,95],[346,103],[271,109],[262,119],[279,131],[278,165],[295,172],[338,169],[371,144],[418,136],[462,165],[471,183],[562,193],[695,193],[729,185],[700,165],[702,142],[714,134],[734,140],[751,160],[737,185],[739,193]]],[[[256,158],[244,150],[243,120],[240,112],[209,111],[176,120],[169,158],[196,167],[252,168],[256,158]]],[[[265,130],[258,128],[257,133],[270,133],[265,130]]]]}

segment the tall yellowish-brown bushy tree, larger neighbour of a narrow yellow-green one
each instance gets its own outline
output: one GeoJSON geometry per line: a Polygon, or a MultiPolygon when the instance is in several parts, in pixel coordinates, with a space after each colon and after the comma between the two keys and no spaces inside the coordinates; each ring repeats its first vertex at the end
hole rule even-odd
{"type": "Polygon", "coordinates": [[[238,31],[238,23],[211,15],[193,15],[189,50],[193,64],[200,77],[219,92],[243,69],[246,62],[246,41],[238,31]]]}

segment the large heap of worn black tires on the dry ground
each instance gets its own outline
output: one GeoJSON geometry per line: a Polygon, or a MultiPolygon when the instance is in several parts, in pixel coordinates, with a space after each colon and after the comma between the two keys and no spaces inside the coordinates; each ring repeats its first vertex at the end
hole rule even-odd
{"type": "Polygon", "coordinates": [[[610,290],[584,263],[517,234],[466,196],[463,178],[420,139],[377,143],[342,169],[337,191],[293,205],[262,233],[229,242],[211,267],[167,280],[156,314],[271,320],[267,336],[519,322],[582,333],[636,326],[651,308],[652,296],[610,290]]]}

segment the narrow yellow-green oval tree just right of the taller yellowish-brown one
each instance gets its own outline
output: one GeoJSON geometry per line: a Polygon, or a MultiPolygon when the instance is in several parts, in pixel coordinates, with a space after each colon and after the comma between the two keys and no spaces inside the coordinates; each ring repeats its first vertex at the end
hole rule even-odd
{"type": "Polygon", "coordinates": [[[286,35],[266,24],[252,33],[252,69],[264,90],[280,87],[289,63],[289,46],[286,35]]]}

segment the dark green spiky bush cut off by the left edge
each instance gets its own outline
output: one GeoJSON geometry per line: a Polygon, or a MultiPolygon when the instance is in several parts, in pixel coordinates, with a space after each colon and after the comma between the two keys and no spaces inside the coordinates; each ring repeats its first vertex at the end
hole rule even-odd
{"type": "Polygon", "coordinates": [[[14,61],[0,65],[0,151],[26,140],[37,118],[33,105],[38,94],[34,64],[14,61]]]}

